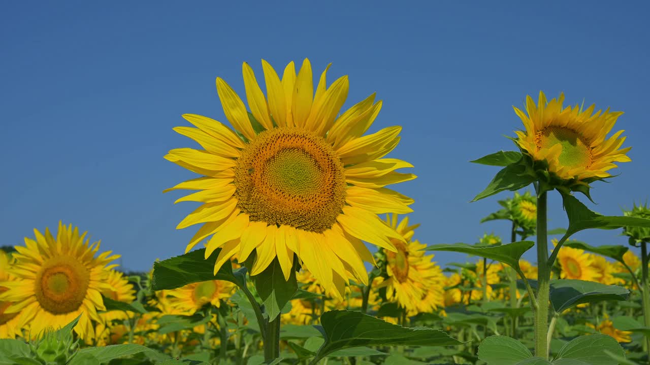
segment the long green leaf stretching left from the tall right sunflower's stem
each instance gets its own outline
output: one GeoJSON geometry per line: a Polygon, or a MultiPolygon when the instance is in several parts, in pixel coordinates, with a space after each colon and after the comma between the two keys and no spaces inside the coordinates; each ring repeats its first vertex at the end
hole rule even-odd
{"type": "Polygon", "coordinates": [[[426,247],[424,251],[452,251],[490,258],[511,266],[513,269],[517,270],[519,275],[523,276],[521,268],[519,268],[519,258],[521,258],[521,255],[534,245],[535,243],[532,241],[518,241],[512,242],[512,244],[494,245],[489,247],[477,247],[460,243],[438,244],[430,245],[429,247],[426,247]]]}

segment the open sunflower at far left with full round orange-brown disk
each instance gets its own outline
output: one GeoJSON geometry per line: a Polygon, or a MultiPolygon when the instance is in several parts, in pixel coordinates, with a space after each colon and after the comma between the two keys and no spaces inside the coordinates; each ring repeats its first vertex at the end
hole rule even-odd
{"type": "Polygon", "coordinates": [[[86,232],[59,222],[57,236],[49,229],[41,234],[34,229],[35,240],[25,238],[25,247],[16,246],[16,264],[10,273],[22,281],[5,281],[9,290],[0,300],[13,301],[5,313],[19,314],[19,323],[31,336],[46,327],[55,329],[70,323],[81,314],[74,331],[84,340],[94,338],[91,320],[100,321],[98,310],[105,310],[101,292],[110,290],[106,278],[109,262],[119,255],[101,253],[99,242],[90,244],[86,232]]]}

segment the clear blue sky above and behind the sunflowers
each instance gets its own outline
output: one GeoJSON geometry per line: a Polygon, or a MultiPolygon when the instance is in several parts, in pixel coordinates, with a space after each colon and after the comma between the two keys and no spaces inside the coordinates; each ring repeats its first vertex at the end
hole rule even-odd
{"type": "MultiPolygon", "coordinates": [[[[243,95],[241,64],[261,72],[309,57],[330,80],[350,75],[346,107],[372,92],[372,131],[402,125],[391,157],[415,165],[398,185],[427,244],[508,235],[478,221],[497,198],[469,200],[497,168],[469,160],[513,149],[526,94],[623,110],[633,162],[596,183],[603,214],[650,197],[650,25],[647,2],[304,1],[5,2],[0,9],[0,245],[22,244],[59,220],[79,225],[124,268],[183,253],[195,228],[175,230],[192,203],[162,194],[192,173],[162,158],[190,141],[183,113],[226,121],[214,79],[243,95]]],[[[551,227],[565,225],[553,194],[551,227]]],[[[626,244],[591,231],[591,244],[626,244]]],[[[465,260],[438,253],[435,260],[465,260]]]]}

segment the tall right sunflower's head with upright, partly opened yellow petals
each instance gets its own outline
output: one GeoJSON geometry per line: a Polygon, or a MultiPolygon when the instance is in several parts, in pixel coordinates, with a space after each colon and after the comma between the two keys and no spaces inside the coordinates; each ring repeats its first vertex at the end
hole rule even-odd
{"type": "Polygon", "coordinates": [[[525,131],[515,131],[521,150],[535,161],[546,161],[548,170],[563,180],[589,183],[610,177],[614,162],[629,162],[630,147],[619,149],[625,141],[618,131],[607,138],[623,112],[609,108],[595,114],[595,105],[586,110],[576,105],[563,107],[564,94],[547,102],[539,92],[538,104],[526,97],[526,113],[513,107],[523,121],[525,131]]]}

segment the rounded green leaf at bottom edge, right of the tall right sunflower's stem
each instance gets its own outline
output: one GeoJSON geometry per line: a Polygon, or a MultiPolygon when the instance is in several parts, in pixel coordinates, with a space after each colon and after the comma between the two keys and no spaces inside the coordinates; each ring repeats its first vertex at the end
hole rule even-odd
{"type": "Polygon", "coordinates": [[[572,365],[577,364],[577,362],[571,360],[578,360],[586,365],[618,365],[618,361],[612,359],[604,351],[625,357],[623,347],[611,336],[607,336],[606,334],[589,334],[588,336],[574,338],[564,345],[560,349],[558,356],[553,360],[553,364],[572,365]]]}

